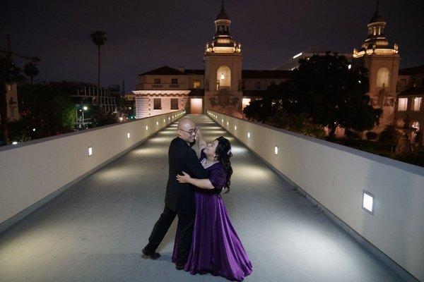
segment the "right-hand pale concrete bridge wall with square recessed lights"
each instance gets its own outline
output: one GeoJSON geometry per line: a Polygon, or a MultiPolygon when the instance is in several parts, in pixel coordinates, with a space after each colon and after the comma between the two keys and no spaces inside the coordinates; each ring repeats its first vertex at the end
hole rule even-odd
{"type": "Polygon", "coordinates": [[[424,281],[424,168],[207,114],[407,281],[424,281]]]}

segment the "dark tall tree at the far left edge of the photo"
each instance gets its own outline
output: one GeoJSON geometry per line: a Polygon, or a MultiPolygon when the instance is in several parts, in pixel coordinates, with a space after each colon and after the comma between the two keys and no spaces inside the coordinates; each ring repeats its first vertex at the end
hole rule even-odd
{"type": "Polygon", "coordinates": [[[14,82],[23,80],[20,75],[20,68],[15,66],[11,54],[0,54],[0,121],[1,121],[1,139],[4,145],[9,142],[7,128],[7,99],[6,99],[6,84],[11,85],[14,82]]]}

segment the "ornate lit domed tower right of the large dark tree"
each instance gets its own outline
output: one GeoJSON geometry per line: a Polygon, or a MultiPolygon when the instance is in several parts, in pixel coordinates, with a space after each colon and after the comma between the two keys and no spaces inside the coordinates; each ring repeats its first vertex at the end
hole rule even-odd
{"type": "Polygon", "coordinates": [[[367,39],[361,49],[353,49],[353,65],[368,69],[372,106],[383,110],[379,126],[373,131],[379,133],[386,125],[394,122],[394,102],[396,99],[396,83],[399,73],[399,46],[395,43],[389,47],[384,37],[386,22],[379,11],[379,1],[374,16],[368,26],[367,39]]]}

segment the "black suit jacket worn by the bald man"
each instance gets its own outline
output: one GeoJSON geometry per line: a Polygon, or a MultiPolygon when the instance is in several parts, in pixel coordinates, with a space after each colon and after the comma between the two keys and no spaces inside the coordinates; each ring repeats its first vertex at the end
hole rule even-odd
{"type": "Polygon", "coordinates": [[[177,174],[185,171],[193,178],[209,178],[209,173],[201,166],[194,149],[179,137],[171,141],[168,158],[170,171],[166,186],[165,205],[177,214],[194,213],[194,186],[188,183],[179,183],[177,174]]]}

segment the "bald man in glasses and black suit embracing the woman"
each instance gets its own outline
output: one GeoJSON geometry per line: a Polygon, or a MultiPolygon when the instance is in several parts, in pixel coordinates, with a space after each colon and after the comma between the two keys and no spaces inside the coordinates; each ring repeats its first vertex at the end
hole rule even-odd
{"type": "Polygon", "coordinates": [[[177,235],[179,238],[176,268],[184,269],[192,243],[194,227],[194,186],[179,183],[177,174],[186,171],[194,178],[208,178],[208,172],[201,166],[196,152],[192,149],[196,137],[196,125],[189,118],[179,120],[177,137],[172,140],[168,150],[169,176],[166,186],[165,209],[156,221],[148,238],[148,244],[143,248],[143,254],[150,259],[158,259],[160,255],[155,250],[162,242],[175,216],[178,216],[177,235]]]}

